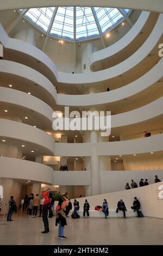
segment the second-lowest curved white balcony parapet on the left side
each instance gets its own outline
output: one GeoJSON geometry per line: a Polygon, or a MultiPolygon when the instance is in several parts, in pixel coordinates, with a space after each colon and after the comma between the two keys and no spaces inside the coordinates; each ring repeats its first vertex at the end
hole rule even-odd
{"type": "Polygon", "coordinates": [[[45,155],[54,155],[55,141],[45,131],[7,119],[0,119],[0,136],[39,145],[45,155]]]}

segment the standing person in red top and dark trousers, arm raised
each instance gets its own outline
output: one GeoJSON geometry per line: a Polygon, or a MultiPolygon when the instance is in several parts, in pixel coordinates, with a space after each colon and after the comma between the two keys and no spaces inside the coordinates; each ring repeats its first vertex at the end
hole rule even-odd
{"type": "Polygon", "coordinates": [[[43,198],[45,199],[42,205],[42,221],[45,229],[44,231],[42,231],[43,234],[49,232],[49,222],[48,222],[48,210],[50,205],[50,201],[48,198],[49,191],[50,191],[50,188],[48,188],[48,190],[45,193],[43,193],[43,198]]]}

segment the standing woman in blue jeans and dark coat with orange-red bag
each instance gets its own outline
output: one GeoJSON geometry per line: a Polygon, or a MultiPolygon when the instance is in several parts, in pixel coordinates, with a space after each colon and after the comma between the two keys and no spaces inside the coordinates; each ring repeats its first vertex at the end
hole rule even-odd
{"type": "Polygon", "coordinates": [[[56,219],[55,219],[55,225],[58,227],[58,238],[59,239],[65,239],[66,236],[64,236],[64,227],[67,225],[66,222],[66,214],[65,214],[65,207],[68,205],[70,200],[68,200],[65,196],[62,196],[58,200],[58,205],[56,206],[56,219]]]}

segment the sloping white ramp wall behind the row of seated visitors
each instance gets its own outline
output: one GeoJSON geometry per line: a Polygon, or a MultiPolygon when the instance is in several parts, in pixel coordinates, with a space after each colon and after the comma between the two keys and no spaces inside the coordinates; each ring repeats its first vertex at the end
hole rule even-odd
{"type": "MultiPolygon", "coordinates": [[[[105,193],[86,198],[90,203],[90,208],[93,209],[95,209],[96,205],[102,205],[104,198],[108,201],[110,209],[116,209],[117,202],[121,198],[124,200],[127,209],[130,209],[131,205],[133,205],[134,197],[137,197],[140,200],[141,209],[145,216],[163,218],[163,199],[158,198],[159,186],[163,186],[163,181],[145,187],[134,188],[132,190],[105,193]]],[[[82,208],[85,198],[78,198],[78,201],[82,208]]]]}

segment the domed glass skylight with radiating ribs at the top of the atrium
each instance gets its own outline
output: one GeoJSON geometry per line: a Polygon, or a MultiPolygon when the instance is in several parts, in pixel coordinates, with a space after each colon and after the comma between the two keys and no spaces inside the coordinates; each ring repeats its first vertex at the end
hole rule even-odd
{"type": "Polygon", "coordinates": [[[24,17],[49,36],[80,41],[104,35],[129,13],[117,8],[48,7],[29,9],[24,17]]]}

